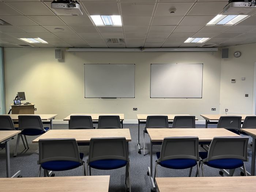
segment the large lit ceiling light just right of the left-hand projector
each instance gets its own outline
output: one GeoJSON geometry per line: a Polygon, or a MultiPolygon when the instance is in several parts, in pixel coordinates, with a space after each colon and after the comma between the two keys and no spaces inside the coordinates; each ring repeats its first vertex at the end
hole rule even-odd
{"type": "Polygon", "coordinates": [[[91,19],[93,20],[96,26],[98,25],[121,26],[122,25],[120,15],[91,15],[91,19]]]}

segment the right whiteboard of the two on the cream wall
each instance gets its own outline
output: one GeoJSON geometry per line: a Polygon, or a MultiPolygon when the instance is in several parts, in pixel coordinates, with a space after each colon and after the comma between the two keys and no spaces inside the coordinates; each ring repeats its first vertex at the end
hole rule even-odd
{"type": "Polygon", "coordinates": [[[202,98],[203,64],[151,64],[151,98],[202,98]]]}

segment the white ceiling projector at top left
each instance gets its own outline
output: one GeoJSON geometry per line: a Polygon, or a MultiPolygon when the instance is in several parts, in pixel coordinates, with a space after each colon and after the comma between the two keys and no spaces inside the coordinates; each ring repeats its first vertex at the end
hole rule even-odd
{"type": "Polygon", "coordinates": [[[52,1],[51,7],[57,15],[83,15],[80,4],[77,1],[52,1]]]}

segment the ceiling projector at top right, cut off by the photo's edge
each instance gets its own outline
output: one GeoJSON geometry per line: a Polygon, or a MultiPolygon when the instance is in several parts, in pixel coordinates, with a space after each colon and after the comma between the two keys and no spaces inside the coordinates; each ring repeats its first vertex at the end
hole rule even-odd
{"type": "Polygon", "coordinates": [[[256,11],[255,0],[229,0],[222,11],[223,15],[251,15],[256,11]]]}

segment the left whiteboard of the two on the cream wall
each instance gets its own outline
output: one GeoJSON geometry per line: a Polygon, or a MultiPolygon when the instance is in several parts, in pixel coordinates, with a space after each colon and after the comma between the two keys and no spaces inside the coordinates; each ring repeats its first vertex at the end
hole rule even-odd
{"type": "Polygon", "coordinates": [[[134,98],[135,64],[84,64],[85,98],[134,98]]]}

